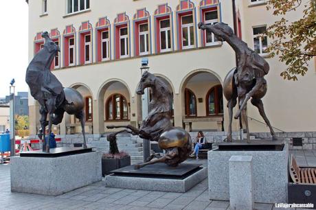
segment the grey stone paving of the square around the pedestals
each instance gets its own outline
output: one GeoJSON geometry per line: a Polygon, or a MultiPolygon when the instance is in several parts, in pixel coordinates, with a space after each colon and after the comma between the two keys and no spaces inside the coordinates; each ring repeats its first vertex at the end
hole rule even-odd
{"type": "MultiPolygon", "coordinates": [[[[297,158],[300,158],[300,164],[304,159],[308,164],[315,163],[316,151],[313,153],[314,159],[310,158],[312,153],[293,152],[297,158]]],[[[206,160],[189,160],[188,162],[207,164],[206,160]]],[[[272,204],[256,203],[255,207],[258,210],[277,209],[272,204]]],[[[105,187],[104,180],[60,196],[12,193],[10,191],[10,165],[0,165],[0,209],[225,210],[229,209],[229,202],[208,200],[207,179],[186,193],[117,189],[105,187]]]]}

